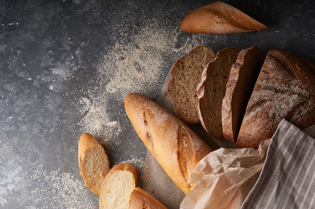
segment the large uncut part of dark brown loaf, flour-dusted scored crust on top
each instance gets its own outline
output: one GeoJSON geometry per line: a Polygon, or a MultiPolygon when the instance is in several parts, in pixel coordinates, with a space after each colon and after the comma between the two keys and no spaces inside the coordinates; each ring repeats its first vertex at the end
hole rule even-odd
{"type": "Polygon", "coordinates": [[[315,66],[281,50],[270,50],[262,66],[236,145],[258,148],[282,119],[303,129],[315,124],[315,66]]]}

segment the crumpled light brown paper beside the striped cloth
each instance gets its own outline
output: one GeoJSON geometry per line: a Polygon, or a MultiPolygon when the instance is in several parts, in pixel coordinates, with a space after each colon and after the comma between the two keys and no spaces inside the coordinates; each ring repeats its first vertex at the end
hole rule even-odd
{"type": "Polygon", "coordinates": [[[253,148],[220,148],[196,165],[189,181],[197,183],[181,209],[240,208],[257,181],[271,139],[253,148]]]}

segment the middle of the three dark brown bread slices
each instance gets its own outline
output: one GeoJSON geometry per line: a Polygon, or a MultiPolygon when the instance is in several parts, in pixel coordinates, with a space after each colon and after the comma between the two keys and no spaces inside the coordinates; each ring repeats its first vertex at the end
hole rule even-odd
{"type": "Polygon", "coordinates": [[[222,138],[221,106],[232,64],[240,50],[225,48],[202,72],[197,87],[198,112],[203,128],[214,138],[222,138]]]}

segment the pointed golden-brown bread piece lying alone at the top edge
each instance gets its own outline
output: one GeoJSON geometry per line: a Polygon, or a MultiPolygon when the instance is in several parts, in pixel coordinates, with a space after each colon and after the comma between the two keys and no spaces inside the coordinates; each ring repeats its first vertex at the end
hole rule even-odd
{"type": "Polygon", "coordinates": [[[180,24],[188,33],[230,34],[259,31],[267,27],[240,10],[215,2],[188,13],[180,24]]]}

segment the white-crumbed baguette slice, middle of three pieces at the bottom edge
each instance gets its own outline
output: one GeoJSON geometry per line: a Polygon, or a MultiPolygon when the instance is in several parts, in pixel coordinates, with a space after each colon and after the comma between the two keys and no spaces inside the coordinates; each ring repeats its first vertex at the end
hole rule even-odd
{"type": "Polygon", "coordinates": [[[130,194],[136,188],[137,169],[133,165],[114,165],[102,184],[100,209],[129,209],[130,194]]]}

